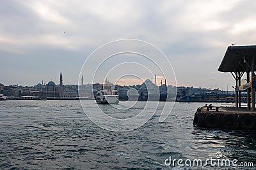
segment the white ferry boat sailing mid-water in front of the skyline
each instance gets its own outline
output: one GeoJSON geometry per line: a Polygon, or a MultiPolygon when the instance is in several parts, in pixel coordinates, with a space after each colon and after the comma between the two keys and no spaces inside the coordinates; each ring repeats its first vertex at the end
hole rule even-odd
{"type": "Polygon", "coordinates": [[[107,80],[105,85],[103,85],[103,89],[97,92],[96,102],[97,104],[118,104],[119,103],[117,90],[111,90],[111,85],[108,85],[107,80]]]}

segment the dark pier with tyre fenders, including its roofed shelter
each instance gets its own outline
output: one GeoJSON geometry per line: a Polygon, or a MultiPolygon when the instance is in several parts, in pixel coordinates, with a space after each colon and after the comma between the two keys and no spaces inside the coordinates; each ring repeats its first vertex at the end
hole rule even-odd
{"type": "Polygon", "coordinates": [[[256,45],[228,46],[218,71],[231,73],[236,81],[235,107],[214,107],[212,104],[198,108],[193,124],[216,129],[256,130],[256,45]],[[246,74],[245,82],[242,81],[246,74]],[[246,107],[241,107],[241,92],[246,92],[246,107]]]}

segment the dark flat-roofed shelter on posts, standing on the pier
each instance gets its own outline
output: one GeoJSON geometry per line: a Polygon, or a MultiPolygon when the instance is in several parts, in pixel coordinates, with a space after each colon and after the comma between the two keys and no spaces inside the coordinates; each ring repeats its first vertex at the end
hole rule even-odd
{"type": "Polygon", "coordinates": [[[236,80],[236,108],[241,108],[241,92],[247,92],[247,109],[255,111],[256,45],[228,46],[218,71],[231,73],[236,80]],[[243,74],[246,82],[241,83],[243,74]]]}

